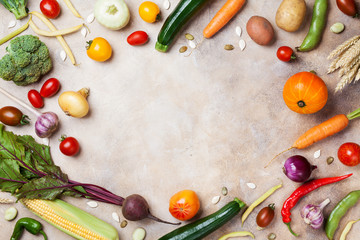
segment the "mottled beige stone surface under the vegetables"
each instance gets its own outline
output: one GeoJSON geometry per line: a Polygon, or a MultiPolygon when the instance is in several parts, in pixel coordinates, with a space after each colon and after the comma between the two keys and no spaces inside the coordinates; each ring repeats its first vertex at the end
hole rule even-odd
{"type": "MultiPolygon", "coordinates": [[[[30,1],[29,8],[39,11],[39,1],[30,1]]],[[[92,13],[94,0],[72,0],[81,15],[92,13]]],[[[162,6],[162,0],[155,0],[162,6]]],[[[174,9],[178,0],[171,0],[170,10],[162,10],[164,18],[174,9]]],[[[104,186],[112,192],[126,197],[133,193],[143,195],[151,206],[151,212],[165,220],[176,221],[168,211],[168,201],[177,191],[192,189],[201,201],[198,217],[206,216],[239,197],[247,204],[252,203],[270,187],[280,181],[284,187],[262,203],[241,227],[240,216],[220,228],[206,239],[217,239],[222,234],[250,230],[256,239],[266,239],[275,233],[277,239],[295,239],[281,220],[281,206],[299,184],[291,182],[282,173],[287,157],[301,154],[316,164],[318,169],[312,177],[354,175],[337,184],[325,186],[304,197],[292,211],[292,227],[300,233],[298,239],[326,239],[323,230],[313,230],[300,218],[299,210],[308,203],[320,203],[329,197],[331,203],[325,208],[328,216],[335,204],[348,192],[359,189],[359,167],[349,168],[337,159],[340,144],[348,141],[359,142],[360,120],[354,120],[340,134],[314,144],[306,150],[292,150],[278,158],[269,168],[264,165],[278,152],[292,145],[295,139],[308,128],[339,113],[348,113],[358,107],[360,85],[351,85],[342,93],[334,94],[339,78],[337,73],[327,75],[329,52],[346,39],[359,34],[357,19],[347,17],[330,1],[328,22],[320,46],[308,53],[298,53],[298,60],[284,63],[276,58],[276,50],[282,45],[296,47],[301,44],[309,28],[313,1],[307,1],[308,13],[301,29],[287,33],[275,25],[275,13],[280,1],[249,0],[243,10],[212,39],[205,40],[191,56],[180,54],[178,49],[186,45],[184,33],[193,34],[196,41],[202,39],[206,26],[225,0],[210,1],[191,23],[184,27],[171,50],[164,54],[154,49],[157,34],[163,21],[148,24],[143,22],[137,8],[141,1],[127,1],[131,11],[129,25],[120,31],[110,31],[96,21],[88,24],[91,33],[84,38],[80,32],[65,39],[74,51],[78,67],[69,59],[63,62],[61,47],[55,38],[41,37],[51,52],[54,69],[38,84],[18,87],[13,83],[0,82],[0,86],[15,96],[27,101],[27,92],[40,89],[49,77],[61,81],[61,91],[79,90],[90,87],[90,114],[83,119],[65,116],[57,105],[56,97],[45,100],[42,111],[56,112],[61,121],[59,131],[51,138],[52,156],[71,179],[104,186]],[[246,33],[246,22],[253,15],[266,17],[276,32],[276,41],[271,46],[259,46],[246,33]],[[329,27],[342,22],[346,29],[336,35],[329,27]],[[235,34],[236,26],[243,30],[241,38],[246,48],[240,51],[235,34]],[[132,47],[126,42],[127,36],[135,30],[144,30],[150,36],[145,46],[132,47]],[[105,37],[113,47],[113,57],[105,63],[90,60],[85,52],[85,42],[95,37],[105,37]],[[233,44],[233,51],[225,51],[225,44],[233,44]],[[291,112],[283,102],[282,88],[287,78],[299,71],[315,70],[324,79],[329,90],[329,101],[325,108],[312,115],[291,112]],[[81,144],[81,153],[66,157],[58,150],[61,134],[76,137],[81,144]],[[314,159],[315,151],[321,149],[321,156],[314,159]],[[332,165],[326,164],[328,156],[335,157],[332,165]],[[250,189],[246,183],[256,184],[250,189]],[[221,194],[226,186],[229,194],[222,197],[217,205],[211,200],[221,194]],[[276,204],[274,222],[266,229],[256,229],[258,211],[270,203],[276,204]]],[[[58,28],[82,23],[59,1],[62,13],[54,20],[58,28]]],[[[12,14],[0,7],[0,35],[11,31],[8,23],[12,14]]],[[[22,20],[21,24],[26,20],[22,20]]],[[[39,26],[45,28],[37,21],[39,26]]],[[[18,25],[16,27],[19,26],[18,25]]],[[[33,34],[29,29],[27,34],[33,34]]],[[[7,44],[0,46],[0,55],[5,53],[7,44]]],[[[0,95],[1,107],[15,105],[0,95]]],[[[32,124],[25,127],[7,127],[17,134],[34,134],[35,116],[19,107],[32,118],[32,124]]],[[[0,197],[10,197],[0,193],[0,197]]],[[[157,239],[174,229],[150,220],[130,222],[121,229],[111,214],[116,211],[121,220],[121,208],[99,203],[90,208],[85,199],[66,199],[72,204],[109,222],[119,232],[120,239],[131,239],[136,227],[147,230],[146,239],[157,239]]],[[[0,205],[1,238],[9,239],[15,222],[6,222],[4,211],[11,205],[0,205]]],[[[14,204],[19,216],[31,216],[21,204],[14,204]]],[[[356,205],[354,209],[360,206],[356,205]]],[[[348,220],[358,219],[358,210],[350,211],[341,221],[340,231],[348,220]]],[[[71,239],[49,224],[45,231],[51,240],[71,239]]],[[[356,225],[355,225],[356,226],[356,225]]],[[[359,228],[354,227],[348,239],[356,239],[359,228]]],[[[42,239],[25,233],[23,239],[42,239]]]]}

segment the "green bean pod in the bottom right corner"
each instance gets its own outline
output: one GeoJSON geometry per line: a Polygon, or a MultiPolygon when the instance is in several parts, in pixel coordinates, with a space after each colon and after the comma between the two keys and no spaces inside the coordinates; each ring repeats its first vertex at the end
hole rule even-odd
{"type": "Polygon", "coordinates": [[[341,218],[347,213],[347,211],[354,206],[360,199],[360,190],[350,192],[343,198],[332,210],[325,225],[325,232],[328,239],[332,240],[336,229],[339,226],[341,218]]]}

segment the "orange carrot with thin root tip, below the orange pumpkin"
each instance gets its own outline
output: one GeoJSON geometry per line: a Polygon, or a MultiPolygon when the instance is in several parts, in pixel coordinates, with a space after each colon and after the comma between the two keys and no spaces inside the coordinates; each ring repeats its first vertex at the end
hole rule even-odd
{"type": "Polygon", "coordinates": [[[306,131],[303,135],[301,135],[295,143],[292,145],[291,148],[282,151],[278,155],[276,155],[271,161],[265,166],[269,166],[270,163],[277,158],[282,153],[289,151],[290,149],[296,148],[296,149],[304,149],[313,143],[316,143],[324,138],[330,137],[331,135],[334,135],[335,133],[338,133],[345,129],[349,125],[349,120],[353,120],[355,118],[360,117],[360,108],[355,110],[354,112],[344,115],[339,114],[336,115],[325,122],[310,128],[308,131],[306,131]]]}

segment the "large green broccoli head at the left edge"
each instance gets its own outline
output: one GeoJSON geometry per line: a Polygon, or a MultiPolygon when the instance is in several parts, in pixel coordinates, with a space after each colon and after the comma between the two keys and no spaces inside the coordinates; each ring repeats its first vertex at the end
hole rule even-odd
{"type": "Polygon", "coordinates": [[[8,54],[0,59],[0,77],[26,86],[37,82],[52,68],[49,49],[32,35],[16,37],[6,48],[8,54]]]}

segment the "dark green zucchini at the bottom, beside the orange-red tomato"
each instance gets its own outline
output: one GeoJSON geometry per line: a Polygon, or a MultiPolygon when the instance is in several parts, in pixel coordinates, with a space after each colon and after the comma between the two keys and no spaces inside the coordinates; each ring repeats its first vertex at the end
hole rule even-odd
{"type": "Polygon", "coordinates": [[[175,229],[174,231],[159,238],[159,240],[202,239],[235,217],[245,206],[245,203],[240,201],[238,198],[235,198],[234,201],[229,202],[217,212],[175,229]]]}

